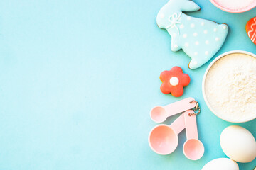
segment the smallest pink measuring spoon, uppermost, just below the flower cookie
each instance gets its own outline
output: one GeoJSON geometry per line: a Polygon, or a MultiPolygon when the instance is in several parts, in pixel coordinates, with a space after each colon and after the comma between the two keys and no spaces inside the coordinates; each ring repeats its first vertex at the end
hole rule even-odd
{"type": "Polygon", "coordinates": [[[176,115],[188,109],[195,108],[196,103],[194,98],[185,98],[166,106],[155,106],[150,111],[150,117],[154,122],[162,123],[171,115],[176,115]]]}

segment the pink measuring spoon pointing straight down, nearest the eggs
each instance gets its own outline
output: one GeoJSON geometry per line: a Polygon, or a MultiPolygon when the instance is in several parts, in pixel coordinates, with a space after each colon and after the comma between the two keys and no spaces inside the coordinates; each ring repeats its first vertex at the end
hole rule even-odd
{"type": "Polygon", "coordinates": [[[186,111],[184,114],[186,127],[186,142],[183,145],[183,154],[191,160],[198,160],[203,157],[203,143],[198,140],[196,115],[193,111],[186,111]]]}

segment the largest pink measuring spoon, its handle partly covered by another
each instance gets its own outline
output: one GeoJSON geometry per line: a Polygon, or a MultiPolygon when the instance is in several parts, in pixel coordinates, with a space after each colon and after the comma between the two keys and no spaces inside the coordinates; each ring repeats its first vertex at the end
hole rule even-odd
{"type": "Polygon", "coordinates": [[[157,154],[171,154],[178,146],[178,134],[184,128],[184,113],[171,125],[156,125],[149,133],[149,146],[157,154]]]}

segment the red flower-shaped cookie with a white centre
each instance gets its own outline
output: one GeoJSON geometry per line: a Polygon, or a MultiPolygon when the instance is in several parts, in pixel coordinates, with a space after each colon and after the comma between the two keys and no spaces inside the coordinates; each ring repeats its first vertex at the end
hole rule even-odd
{"type": "Polygon", "coordinates": [[[163,94],[172,94],[174,97],[182,96],[183,86],[188,86],[190,77],[182,72],[181,67],[173,67],[170,71],[164,71],[160,74],[163,82],[160,90],[163,94]]]}

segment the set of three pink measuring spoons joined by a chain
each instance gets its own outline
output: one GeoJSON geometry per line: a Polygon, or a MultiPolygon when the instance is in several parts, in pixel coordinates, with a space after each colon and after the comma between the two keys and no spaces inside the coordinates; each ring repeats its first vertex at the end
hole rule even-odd
{"type": "Polygon", "coordinates": [[[196,115],[200,111],[198,102],[194,98],[185,98],[167,106],[156,106],[151,109],[151,119],[162,123],[171,115],[182,113],[171,125],[156,125],[149,132],[149,146],[157,154],[171,154],[178,146],[178,134],[186,128],[186,142],[183,144],[183,154],[191,160],[198,160],[203,156],[203,143],[198,140],[196,115]]]}

